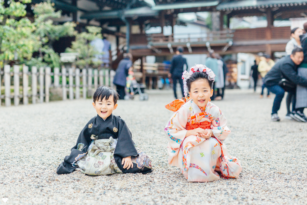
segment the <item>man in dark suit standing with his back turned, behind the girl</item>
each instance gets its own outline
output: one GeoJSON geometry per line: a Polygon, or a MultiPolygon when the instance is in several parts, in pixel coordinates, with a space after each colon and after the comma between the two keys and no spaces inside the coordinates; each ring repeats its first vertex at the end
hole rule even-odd
{"type": "Polygon", "coordinates": [[[182,96],[185,97],[185,92],[183,90],[182,73],[183,73],[183,66],[186,65],[188,69],[188,64],[187,64],[187,59],[182,57],[182,53],[183,53],[183,48],[178,47],[176,55],[172,59],[171,69],[169,71],[169,77],[172,77],[173,79],[173,89],[176,99],[177,99],[177,93],[176,93],[177,80],[179,81],[179,84],[181,86],[182,96]]]}

